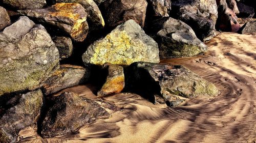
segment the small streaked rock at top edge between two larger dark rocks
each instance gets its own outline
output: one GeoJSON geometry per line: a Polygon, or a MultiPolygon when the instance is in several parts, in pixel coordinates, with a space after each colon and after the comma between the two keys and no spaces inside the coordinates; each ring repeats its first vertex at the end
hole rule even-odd
{"type": "Polygon", "coordinates": [[[154,16],[168,17],[171,10],[170,0],[148,0],[148,7],[152,7],[154,16]]]}

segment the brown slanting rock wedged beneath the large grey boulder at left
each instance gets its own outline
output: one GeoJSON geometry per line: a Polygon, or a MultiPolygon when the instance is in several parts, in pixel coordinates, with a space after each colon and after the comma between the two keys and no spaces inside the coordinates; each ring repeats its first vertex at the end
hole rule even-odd
{"type": "Polygon", "coordinates": [[[80,66],[61,65],[59,70],[56,70],[42,85],[42,91],[45,95],[56,93],[62,89],[84,83],[88,81],[89,77],[89,69],[80,66]]]}

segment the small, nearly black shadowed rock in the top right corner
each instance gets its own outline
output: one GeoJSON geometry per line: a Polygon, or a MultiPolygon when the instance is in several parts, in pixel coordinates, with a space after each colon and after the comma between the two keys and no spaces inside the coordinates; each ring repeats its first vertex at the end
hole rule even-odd
{"type": "Polygon", "coordinates": [[[238,17],[252,18],[254,16],[254,9],[252,7],[240,2],[237,3],[237,6],[239,9],[238,17]]]}

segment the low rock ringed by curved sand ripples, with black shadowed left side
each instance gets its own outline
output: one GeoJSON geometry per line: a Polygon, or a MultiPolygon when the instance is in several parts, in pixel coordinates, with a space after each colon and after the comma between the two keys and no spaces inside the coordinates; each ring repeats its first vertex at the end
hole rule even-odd
{"type": "Polygon", "coordinates": [[[160,94],[165,101],[170,102],[219,94],[214,84],[182,66],[136,62],[129,71],[126,83],[139,95],[153,97],[152,94],[160,94]]]}

